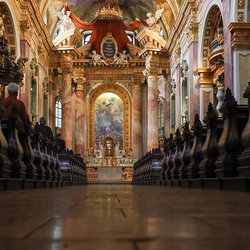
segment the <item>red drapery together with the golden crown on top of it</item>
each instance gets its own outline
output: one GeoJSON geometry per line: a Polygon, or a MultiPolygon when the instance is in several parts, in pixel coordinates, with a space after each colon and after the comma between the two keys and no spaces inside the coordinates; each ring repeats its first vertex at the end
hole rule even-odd
{"type": "MultiPolygon", "coordinates": [[[[67,11],[71,10],[68,6],[65,6],[65,14],[67,11]]],[[[125,30],[135,31],[140,28],[142,25],[148,26],[147,22],[140,21],[139,19],[135,20],[130,24],[125,24],[121,20],[123,11],[118,6],[101,6],[96,11],[96,18],[92,23],[84,23],[78,19],[72,12],[70,18],[77,28],[83,30],[93,29],[89,44],[92,44],[92,50],[95,50],[97,54],[100,53],[100,45],[102,39],[107,35],[108,32],[113,34],[113,37],[117,41],[118,51],[120,53],[126,49],[126,45],[132,44],[129,40],[125,30]]]]}

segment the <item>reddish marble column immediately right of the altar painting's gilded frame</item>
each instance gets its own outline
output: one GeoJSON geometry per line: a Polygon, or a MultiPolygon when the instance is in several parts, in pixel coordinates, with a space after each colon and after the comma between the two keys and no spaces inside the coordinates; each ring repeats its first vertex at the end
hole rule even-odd
{"type": "Polygon", "coordinates": [[[142,87],[141,79],[133,84],[133,158],[141,159],[142,153],[142,87]]]}

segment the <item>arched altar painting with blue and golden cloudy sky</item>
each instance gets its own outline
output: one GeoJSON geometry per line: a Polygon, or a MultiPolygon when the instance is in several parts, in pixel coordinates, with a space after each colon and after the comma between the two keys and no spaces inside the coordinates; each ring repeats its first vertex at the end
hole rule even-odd
{"type": "Polygon", "coordinates": [[[113,93],[102,94],[95,101],[95,145],[107,136],[119,138],[123,148],[123,102],[113,93]]]}

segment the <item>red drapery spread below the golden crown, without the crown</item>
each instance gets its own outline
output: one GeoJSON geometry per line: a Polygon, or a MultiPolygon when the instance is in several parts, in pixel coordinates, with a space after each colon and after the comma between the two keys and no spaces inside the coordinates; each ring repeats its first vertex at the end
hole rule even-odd
{"type": "MultiPolygon", "coordinates": [[[[65,12],[70,11],[68,6],[65,6],[65,12]]],[[[70,14],[72,22],[77,28],[83,30],[93,29],[91,38],[88,43],[92,43],[92,50],[95,50],[98,54],[100,53],[101,41],[103,37],[107,35],[108,32],[111,32],[113,37],[117,41],[118,50],[122,52],[126,49],[126,44],[130,43],[130,40],[125,33],[125,30],[135,31],[146,23],[139,21],[134,21],[131,24],[124,24],[121,20],[98,20],[95,19],[92,23],[84,23],[78,19],[72,12],[70,14]]]]}

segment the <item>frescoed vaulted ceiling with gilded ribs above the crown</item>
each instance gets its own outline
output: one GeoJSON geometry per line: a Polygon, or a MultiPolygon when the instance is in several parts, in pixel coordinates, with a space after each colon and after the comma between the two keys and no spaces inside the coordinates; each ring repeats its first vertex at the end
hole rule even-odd
{"type": "MultiPolygon", "coordinates": [[[[162,22],[168,33],[177,17],[180,3],[183,0],[113,0],[124,11],[124,23],[133,22],[136,18],[146,20],[148,12],[154,13],[164,7],[162,22]]],[[[37,0],[42,16],[47,13],[47,26],[50,33],[55,30],[58,20],[56,13],[68,3],[72,12],[82,21],[90,23],[94,20],[93,10],[105,4],[106,0],[37,0]]]]}

